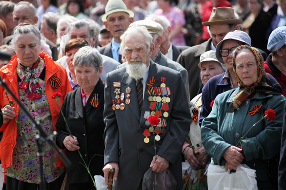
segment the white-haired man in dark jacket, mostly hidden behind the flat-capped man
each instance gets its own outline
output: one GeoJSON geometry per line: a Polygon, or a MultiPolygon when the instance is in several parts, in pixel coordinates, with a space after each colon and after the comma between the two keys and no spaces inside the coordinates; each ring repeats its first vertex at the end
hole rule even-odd
{"type": "Polygon", "coordinates": [[[151,15],[146,18],[146,20],[153,20],[158,22],[163,27],[162,43],[160,45],[161,53],[167,58],[177,61],[179,55],[184,50],[188,49],[188,46],[174,46],[171,43],[170,37],[172,34],[172,28],[170,21],[165,16],[151,15]]]}

